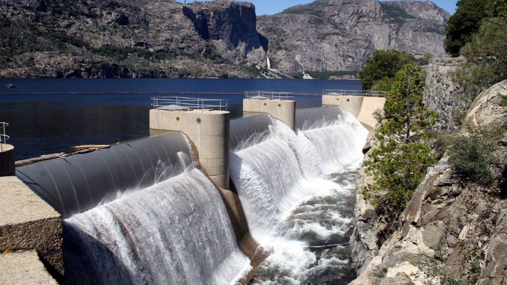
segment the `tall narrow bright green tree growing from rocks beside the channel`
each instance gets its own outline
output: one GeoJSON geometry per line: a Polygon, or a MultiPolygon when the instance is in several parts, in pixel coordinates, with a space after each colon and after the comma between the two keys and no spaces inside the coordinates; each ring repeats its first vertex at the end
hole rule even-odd
{"type": "Polygon", "coordinates": [[[365,162],[374,183],[364,189],[364,194],[373,198],[377,210],[393,224],[423,179],[426,168],[437,162],[424,143],[437,115],[423,106],[422,98],[419,73],[414,65],[407,64],[396,74],[384,104],[386,121],[376,133],[379,144],[365,162]],[[378,195],[379,192],[387,194],[378,195]]]}

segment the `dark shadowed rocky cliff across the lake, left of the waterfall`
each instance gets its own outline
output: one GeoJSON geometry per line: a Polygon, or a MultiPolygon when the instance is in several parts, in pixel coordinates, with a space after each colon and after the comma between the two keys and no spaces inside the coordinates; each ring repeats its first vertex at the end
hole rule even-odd
{"type": "Polygon", "coordinates": [[[0,19],[2,77],[270,76],[250,68],[265,59],[250,3],[3,1],[0,19]]]}

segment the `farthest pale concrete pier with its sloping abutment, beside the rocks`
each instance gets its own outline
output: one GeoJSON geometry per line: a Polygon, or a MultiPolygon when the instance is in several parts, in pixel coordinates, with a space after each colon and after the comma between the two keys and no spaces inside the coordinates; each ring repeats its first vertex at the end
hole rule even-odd
{"type": "Polygon", "coordinates": [[[343,107],[369,131],[378,123],[373,111],[384,109],[384,103],[385,97],[322,95],[322,105],[343,107]]]}

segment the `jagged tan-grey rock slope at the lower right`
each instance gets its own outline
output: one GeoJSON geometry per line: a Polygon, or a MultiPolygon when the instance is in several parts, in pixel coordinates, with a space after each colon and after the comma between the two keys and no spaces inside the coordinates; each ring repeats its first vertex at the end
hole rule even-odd
{"type": "MultiPolygon", "coordinates": [[[[466,121],[504,124],[507,105],[502,96],[506,95],[507,81],[483,91],[466,121]]],[[[458,181],[444,156],[428,169],[400,217],[399,229],[380,248],[370,246],[378,244],[372,237],[376,236],[375,213],[370,210],[368,225],[358,227],[359,233],[363,229],[369,234],[352,239],[356,248],[363,248],[358,257],[364,266],[350,284],[507,283],[507,132],[498,146],[500,164],[494,169],[498,185],[458,181]]],[[[358,203],[358,221],[364,223],[365,212],[368,207],[358,203]]]]}

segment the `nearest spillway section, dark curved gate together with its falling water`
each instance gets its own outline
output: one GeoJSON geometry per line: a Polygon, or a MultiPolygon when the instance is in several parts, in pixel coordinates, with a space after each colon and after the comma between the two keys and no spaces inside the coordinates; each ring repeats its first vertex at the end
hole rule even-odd
{"type": "Polygon", "coordinates": [[[227,284],[248,271],[183,133],[18,167],[63,218],[69,284],[227,284]]]}

